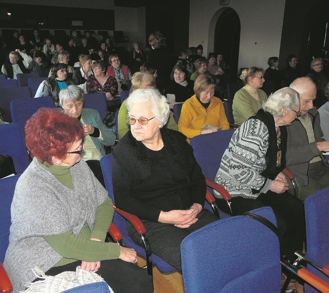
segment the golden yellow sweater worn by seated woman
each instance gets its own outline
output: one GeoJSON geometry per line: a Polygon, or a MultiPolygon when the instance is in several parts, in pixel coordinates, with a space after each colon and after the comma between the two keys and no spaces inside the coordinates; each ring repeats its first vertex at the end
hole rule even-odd
{"type": "Polygon", "coordinates": [[[196,98],[196,95],[186,100],[181,107],[178,121],[178,131],[187,138],[199,135],[204,125],[221,127],[222,130],[230,128],[225,115],[225,109],[221,99],[213,97],[207,109],[196,98]]]}

